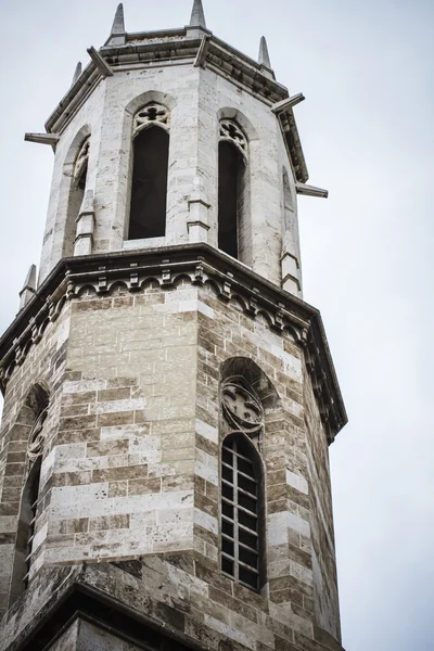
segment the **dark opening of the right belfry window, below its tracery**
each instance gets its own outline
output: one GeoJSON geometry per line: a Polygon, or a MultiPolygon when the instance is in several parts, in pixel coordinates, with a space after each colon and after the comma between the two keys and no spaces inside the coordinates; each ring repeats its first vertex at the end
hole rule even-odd
{"type": "Polygon", "coordinates": [[[242,154],[224,140],[218,145],[218,247],[237,259],[243,184],[242,154]]]}

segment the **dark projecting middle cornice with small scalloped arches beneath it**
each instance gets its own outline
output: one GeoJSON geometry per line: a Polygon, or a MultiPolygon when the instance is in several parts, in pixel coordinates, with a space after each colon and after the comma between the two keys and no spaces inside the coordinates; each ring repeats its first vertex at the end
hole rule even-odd
{"type": "Polygon", "coordinates": [[[140,292],[151,279],[170,289],[180,277],[189,278],[193,284],[212,284],[221,301],[237,298],[251,318],[261,315],[275,332],[291,333],[305,350],[321,419],[332,443],[347,417],[319,311],[207,244],[61,260],[0,339],[2,391],[15,366],[22,365],[30,347],[41,340],[47,326],[84,288],[104,296],[119,283],[130,292],[140,292]]]}

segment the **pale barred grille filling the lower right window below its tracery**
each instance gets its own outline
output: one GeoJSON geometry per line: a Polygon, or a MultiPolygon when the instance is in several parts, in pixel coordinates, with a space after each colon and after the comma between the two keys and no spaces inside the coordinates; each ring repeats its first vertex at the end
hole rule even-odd
{"type": "Polygon", "coordinates": [[[258,471],[242,436],[226,438],[221,458],[221,572],[260,588],[258,471]]]}

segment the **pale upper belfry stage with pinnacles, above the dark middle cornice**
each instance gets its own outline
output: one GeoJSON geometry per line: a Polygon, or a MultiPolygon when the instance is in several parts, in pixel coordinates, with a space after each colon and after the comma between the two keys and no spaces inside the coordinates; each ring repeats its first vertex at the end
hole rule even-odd
{"type": "Polygon", "coordinates": [[[271,69],[190,25],[106,43],[27,139],[54,145],[39,280],[63,257],[205,242],[302,295],[297,192],[312,192],[271,69]]]}

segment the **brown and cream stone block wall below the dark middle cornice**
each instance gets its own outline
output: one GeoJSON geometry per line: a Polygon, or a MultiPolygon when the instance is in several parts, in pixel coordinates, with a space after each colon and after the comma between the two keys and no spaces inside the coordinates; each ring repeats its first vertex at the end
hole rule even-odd
{"type": "MultiPolygon", "coordinates": [[[[310,650],[318,626],[339,638],[337,601],[332,591],[323,601],[318,583],[334,567],[322,551],[330,502],[320,502],[324,521],[316,498],[330,495],[326,435],[291,335],[272,332],[261,315],[247,316],[241,298],[227,303],[212,285],[182,278],[137,294],[124,285],[106,296],[85,289],[55,329],[63,333],[55,346],[67,339],[66,368],[50,408],[55,431],[44,448],[47,508],[30,589],[46,567],[141,559],[143,603],[151,593],[169,604],[166,617],[175,623],[188,604],[189,635],[212,648],[225,638],[233,649],[290,650],[277,646],[278,636],[310,650]],[[234,357],[252,359],[278,396],[266,416],[261,595],[219,573],[219,380],[234,357]],[[306,409],[315,416],[308,432],[306,409]],[[309,459],[317,454],[319,474],[309,459]]],[[[47,345],[34,346],[25,362],[34,382],[43,370],[35,360],[49,359],[47,345]]],[[[22,368],[9,385],[7,423],[24,393],[16,394],[22,368]]]]}

